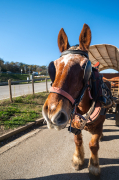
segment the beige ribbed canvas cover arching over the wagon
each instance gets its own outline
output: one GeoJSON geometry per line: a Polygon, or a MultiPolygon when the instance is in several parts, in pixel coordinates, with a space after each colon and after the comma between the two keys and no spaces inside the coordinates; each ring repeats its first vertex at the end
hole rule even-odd
{"type": "Polygon", "coordinates": [[[119,49],[117,47],[109,44],[92,45],[88,54],[92,65],[100,63],[99,71],[104,69],[119,71],[119,49]]]}

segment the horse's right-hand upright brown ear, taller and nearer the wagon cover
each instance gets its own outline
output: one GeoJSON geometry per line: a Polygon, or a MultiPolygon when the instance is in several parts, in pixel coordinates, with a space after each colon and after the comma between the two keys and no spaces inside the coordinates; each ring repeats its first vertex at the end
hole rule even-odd
{"type": "Polygon", "coordinates": [[[84,51],[88,51],[91,43],[91,30],[87,24],[83,25],[83,29],[79,36],[79,48],[84,51]]]}

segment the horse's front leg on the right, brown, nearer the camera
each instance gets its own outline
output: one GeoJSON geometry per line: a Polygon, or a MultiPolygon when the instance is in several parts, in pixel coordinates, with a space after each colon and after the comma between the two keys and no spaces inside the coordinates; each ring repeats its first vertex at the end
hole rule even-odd
{"type": "Polygon", "coordinates": [[[102,133],[93,134],[91,141],[89,142],[91,156],[89,159],[88,169],[91,174],[94,174],[96,176],[100,174],[98,150],[99,150],[99,139],[101,134],[102,133]]]}

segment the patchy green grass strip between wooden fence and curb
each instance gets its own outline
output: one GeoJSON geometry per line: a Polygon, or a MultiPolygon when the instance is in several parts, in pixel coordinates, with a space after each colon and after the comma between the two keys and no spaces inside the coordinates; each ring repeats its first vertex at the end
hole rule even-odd
{"type": "Polygon", "coordinates": [[[42,117],[42,106],[49,93],[42,92],[35,95],[20,96],[0,101],[0,127],[14,129],[33,122],[42,117]]]}

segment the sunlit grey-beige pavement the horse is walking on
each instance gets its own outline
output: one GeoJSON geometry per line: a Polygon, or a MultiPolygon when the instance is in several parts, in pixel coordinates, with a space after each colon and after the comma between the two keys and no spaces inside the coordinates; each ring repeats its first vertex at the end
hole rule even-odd
{"type": "Polygon", "coordinates": [[[67,128],[61,131],[48,130],[46,126],[39,128],[32,137],[0,155],[0,180],[119,180],[119,127],[115,126],[114,116],[107,115],[104,124],[98,178],[91,176],[87,169],[91,135],[83,131],[83,138],[85,164],[82,170],[75,171],[71,166],[75,148],[73,134],[67,128]]]}

